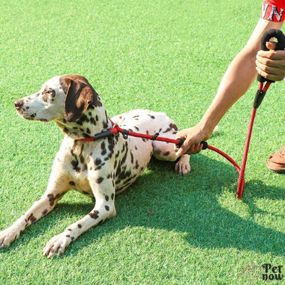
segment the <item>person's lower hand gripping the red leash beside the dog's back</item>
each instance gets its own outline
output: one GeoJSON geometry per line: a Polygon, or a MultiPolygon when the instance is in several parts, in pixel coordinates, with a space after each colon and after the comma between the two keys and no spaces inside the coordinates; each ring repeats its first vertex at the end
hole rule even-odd
{"type": "Polygon", "coordinates": [[[212,132],[205,132],[199,124],[195,127],[190,127],[188,129],[182,129],[181,131],[177,132],[176,138],[185,138],[183,145],[179,147],[174,147],[174,151],[176,152],[177,156],[182,156],[182,154],[195,154],[199,153],[203,147],[201,145],[202,141],[208,140],[210,138],[212,132]]]}

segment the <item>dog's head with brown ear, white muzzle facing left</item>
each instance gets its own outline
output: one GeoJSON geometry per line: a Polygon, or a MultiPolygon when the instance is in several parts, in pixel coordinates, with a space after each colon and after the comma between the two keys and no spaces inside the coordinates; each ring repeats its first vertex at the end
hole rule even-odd
{"type": "Polygon", "coordinates": [[[80,75],[53,77],[35,94],[14,102],[18,114],[24,119],[43,122],[76,121],[90,105],[102,106],[97,92],[80,75]]]}

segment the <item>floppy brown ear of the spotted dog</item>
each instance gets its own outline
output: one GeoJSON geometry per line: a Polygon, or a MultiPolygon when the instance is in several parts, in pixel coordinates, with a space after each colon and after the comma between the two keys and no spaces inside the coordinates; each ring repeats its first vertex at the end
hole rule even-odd
{"type": "Polygon", "coordinates": [[[90,104],[96,105],[98,101],[97,92],[87,80],[64,77],[64,89],[66,92],[64,119],[68,122],[79,119],[90,104]]]}

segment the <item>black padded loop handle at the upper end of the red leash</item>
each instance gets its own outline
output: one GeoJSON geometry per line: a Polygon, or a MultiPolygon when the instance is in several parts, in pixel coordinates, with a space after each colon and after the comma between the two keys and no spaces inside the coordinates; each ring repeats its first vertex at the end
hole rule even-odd
{"type": "MultiPolygon", "coordinates": [[[[275,48],[275,51],[282,51],[285,48],[285,35],[280,31],[280,29],[269,29],[265,32],[261,38],[261,49],[262,51],[269,51],[267,49],[267,42],[271,38],[277,38],[278,42],[275,48]]],[[[269,80],[258,74],[258,81],[259,82],[275,82],[274,80],[269,80]]]]}

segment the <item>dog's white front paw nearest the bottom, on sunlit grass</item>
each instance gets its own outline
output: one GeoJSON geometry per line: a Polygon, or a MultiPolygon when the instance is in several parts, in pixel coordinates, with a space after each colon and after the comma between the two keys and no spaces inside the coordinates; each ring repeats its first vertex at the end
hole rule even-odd
{"type": "Polygon", "coordinates": [[[59,256],[64,253],[65,248],[68,247],[70,243],[71,237],[66,236],[64,233],[53,236],[45,246],[43,256],[47,256],[47,258],[59,256]]]}

